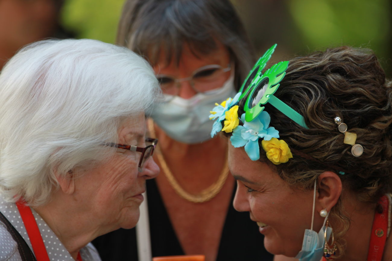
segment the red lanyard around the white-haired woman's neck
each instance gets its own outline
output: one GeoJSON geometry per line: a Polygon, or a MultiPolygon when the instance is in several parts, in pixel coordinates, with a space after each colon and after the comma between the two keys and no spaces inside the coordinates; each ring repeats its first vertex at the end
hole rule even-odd
{"type": "MultiPolygon", "coordinates": [[[[49,256],[46,252],[44,240],[42,240],[40,229],[38,229],[33,212],[31,212],[31,209],[22,200],[16,202],[16,207],[18,207],[20,217],[22,218],[22,221],[25,225],[27,235],[30,238],[31,246],[33,247],[34,255],[37,261],[49,261],[49,256]]],[[[78,253],[76,260],[82,261],[80,252],[78,253]]]]}

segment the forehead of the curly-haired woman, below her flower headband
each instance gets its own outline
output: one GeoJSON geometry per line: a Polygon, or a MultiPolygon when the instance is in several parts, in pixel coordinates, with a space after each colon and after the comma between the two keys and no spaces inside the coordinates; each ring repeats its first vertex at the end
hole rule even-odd
{"type": "Polygon", "coordinates": [[[244,148],[234,148],[229,142],[229,169],[233,176],[253,183],[283,182],[267,163],[251,160],[244,148]]]}

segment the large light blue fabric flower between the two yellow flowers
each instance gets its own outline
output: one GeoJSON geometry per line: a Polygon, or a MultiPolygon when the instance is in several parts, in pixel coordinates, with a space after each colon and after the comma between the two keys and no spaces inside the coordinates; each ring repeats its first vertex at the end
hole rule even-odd
{"type": "Polygon", "coordinates": [[[262,111],[253,121],[245,121],[245,113],[241,115],[243,126],[237,126],[233,130],[233,135],[230,137],[231,144],[235,148],[245,146],[245,151],[251,160],[258,160],[260,158],[260,148],[258,140],[270,140],[272,138],[279,138],[279,131],[274,127],[269,127],[270,115],[266,111],[262,111]]]}

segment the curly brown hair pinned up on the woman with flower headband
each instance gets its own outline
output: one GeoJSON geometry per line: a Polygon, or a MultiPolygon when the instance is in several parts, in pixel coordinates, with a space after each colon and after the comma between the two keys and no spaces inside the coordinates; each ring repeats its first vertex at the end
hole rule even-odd
{"type": "MultiPolygon", "coordinates": [[[[385,79],[371,50],[344,46],[294,58],[274,95],[303,115],[309,127],[299,126],[265,104],[270,126],[279,130],[280,139],[287,142],[294,156],[274,166],[283,180],[293,187],[310,189],[324,171],[345,169],[347,173],[339,175],[343,193],[352,191],[359,200],[376,203],[391,192],[392,83],[385,79]],[[347,124],[347,131],[357,134],[356,143],[363,146],[360,157],[354,157],[351,146],[343,143],[344,134],[334,122],[337,116],[347,124]]],[[[239,103],[238,115],[244,112],[245,100],[239,103]]],[[[261,139],[259,145],[260,161],[270,163],[261,139]]],[[[343,254],[341,236],[350,220],[340,200],[330,217],[334,217],[331,225],[337,228],[335,238],[339,254],[343,254]]]]}

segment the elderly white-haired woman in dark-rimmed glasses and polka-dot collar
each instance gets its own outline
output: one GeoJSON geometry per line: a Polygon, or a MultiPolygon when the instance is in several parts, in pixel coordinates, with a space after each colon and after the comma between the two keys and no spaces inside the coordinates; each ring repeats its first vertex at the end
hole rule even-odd
{"type": "Polygon", "coordinates": [[[158,166],[150,65],[95,40],[46,40],[0,74],[0,259],[100,260],[91,240],[139,219],[158,166]]]}

